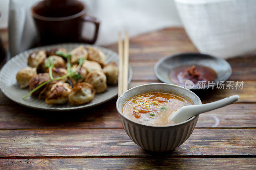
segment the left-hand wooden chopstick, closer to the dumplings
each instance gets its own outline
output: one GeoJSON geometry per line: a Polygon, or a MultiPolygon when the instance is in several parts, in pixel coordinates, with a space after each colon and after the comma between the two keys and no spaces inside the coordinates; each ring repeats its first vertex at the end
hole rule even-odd
{"type": "Polygon", "coordinates": [[[123,93],[123,39],[118,34],[118,97],[123,93]]]}

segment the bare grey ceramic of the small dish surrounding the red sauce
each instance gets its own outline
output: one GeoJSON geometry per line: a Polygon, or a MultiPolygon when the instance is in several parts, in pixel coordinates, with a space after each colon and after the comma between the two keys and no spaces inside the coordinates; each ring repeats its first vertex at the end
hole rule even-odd
{"type": "MultiPolygon", "coordinates": [[[[200,53],[181,53],[165,56],[155,64],[154,74],[164,83],[175,84],[169,78],[170,71],[185,65],[200,65],[211,68],[217,73],[216,81],[226,81],[232,74],[231,66],[226,60],[200,53]]],[[[216,85],[215,83],[214,86],[216,85]]]]}

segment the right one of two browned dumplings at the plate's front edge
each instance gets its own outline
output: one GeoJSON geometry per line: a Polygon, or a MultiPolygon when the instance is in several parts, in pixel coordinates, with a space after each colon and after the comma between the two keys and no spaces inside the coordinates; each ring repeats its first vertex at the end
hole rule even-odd
{"type": "Polygon", "coordinates": [[[90,102],[95,94],[93,86],[88,83],[77,83],[68,95],[71,105],[82,105],[90,102]]]}

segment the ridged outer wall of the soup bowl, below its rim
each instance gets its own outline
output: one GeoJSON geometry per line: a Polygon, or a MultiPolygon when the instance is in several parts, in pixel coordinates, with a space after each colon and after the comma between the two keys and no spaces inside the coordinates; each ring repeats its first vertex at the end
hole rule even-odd
{"type": "Polygon", "coordinates": [[[190,137],[198,116],[185,124],[163,128],[142,126],[126,120],[122,116],[120,119],[125,132],[135,144],[148,151],[165,152],[179,147],[190,137]]]}

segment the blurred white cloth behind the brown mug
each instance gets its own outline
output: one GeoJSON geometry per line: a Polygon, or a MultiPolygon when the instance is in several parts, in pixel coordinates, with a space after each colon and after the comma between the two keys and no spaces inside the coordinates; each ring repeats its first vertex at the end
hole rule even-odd
{"type": "MultiPolygon", "coordinates": [[[[181,26],[173,0],[83,0],[88,15],[99,18],[100,32],[96,44],[106,45],[117,41],[117,33],[127,30],[135,36],[169,26],[181,26]]],[[[10,0],[9,48],[14,56],[38,41],[30,8],[38,0],[10,0]]],[[[85,36],[93,28],[85,24],[85,36]]]]}

